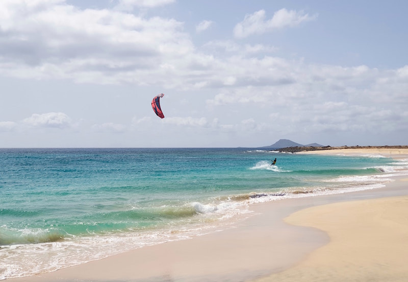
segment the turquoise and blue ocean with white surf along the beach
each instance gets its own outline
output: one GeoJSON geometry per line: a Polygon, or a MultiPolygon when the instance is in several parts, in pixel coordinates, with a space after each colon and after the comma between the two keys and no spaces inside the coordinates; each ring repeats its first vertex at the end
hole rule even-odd
{"type": "Polygon", "coordinates": [[[0,279],[226,228],[253,203],[377,189],[407,171],[408,160],[378,155],[0,149],[0,279]]]}

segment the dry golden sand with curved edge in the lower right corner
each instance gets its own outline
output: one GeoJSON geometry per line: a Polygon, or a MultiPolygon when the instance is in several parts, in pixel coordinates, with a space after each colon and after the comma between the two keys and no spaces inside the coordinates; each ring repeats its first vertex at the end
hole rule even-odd
{"type": "Polygon", "coordinates": [[[408,196],[341,202],[285,219],[327,232],[330,243],[266,281],[408,281],[408,196]]]}

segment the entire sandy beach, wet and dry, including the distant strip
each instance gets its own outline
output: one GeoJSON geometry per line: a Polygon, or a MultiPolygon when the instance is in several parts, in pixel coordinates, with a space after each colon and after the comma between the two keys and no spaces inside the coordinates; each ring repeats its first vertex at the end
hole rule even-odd
{"type": "MultiPolygon", "coordinates": [[[[334,151],[307,153],[408,158],[400,150],[334,151]]],[[[249,217],[203,236],[7,281],[406,281],[407,180],[256,204],[249,217]]]]}

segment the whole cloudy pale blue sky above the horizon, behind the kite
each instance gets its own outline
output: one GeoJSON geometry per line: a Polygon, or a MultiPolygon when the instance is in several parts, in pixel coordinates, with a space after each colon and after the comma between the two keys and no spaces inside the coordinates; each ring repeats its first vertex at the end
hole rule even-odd
{"type": "Polygon", "coordinates": [[[407,10],[1,0],[0,148],[408,145],[407,10]]]}

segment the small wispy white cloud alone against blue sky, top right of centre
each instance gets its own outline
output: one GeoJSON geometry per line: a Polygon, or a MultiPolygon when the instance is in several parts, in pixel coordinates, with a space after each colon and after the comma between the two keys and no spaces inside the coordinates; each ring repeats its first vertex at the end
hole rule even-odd
{"type": "Polygon", "coordinates": [[[303,21],[315,20],[317,16],[317,14],[309,16],[303,11],[288,11],[284,8],[276,11],[271,19],[265,20],[265,10],[259,10],[245,15],[244,20],[235,26],[234,36],[245,38],[252,34],[263,34],[277,29],[294,27],[303,21]]]}

